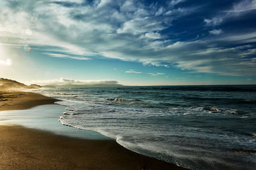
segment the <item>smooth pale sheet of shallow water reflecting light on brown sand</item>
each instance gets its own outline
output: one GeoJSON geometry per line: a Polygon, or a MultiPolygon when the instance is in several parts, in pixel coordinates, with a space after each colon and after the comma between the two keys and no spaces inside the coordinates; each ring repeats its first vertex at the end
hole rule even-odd
{"type": "Polygon", "coordinates": [[[0,111],[0,125],[22,125],[72,138],[109,139],[94,131],[83,131],[61,125],[58,118],[63,111],[65,107],[59,104],[41,105],[28,110],[0,111]]]}

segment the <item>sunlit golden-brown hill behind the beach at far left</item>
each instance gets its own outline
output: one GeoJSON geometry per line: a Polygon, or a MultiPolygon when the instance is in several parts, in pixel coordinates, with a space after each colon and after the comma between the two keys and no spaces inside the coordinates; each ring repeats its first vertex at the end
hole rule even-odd
{"type": "Polygon", "coordinates": [[[15,80],[0,78],[0,90],[22,90],[22,89],[38,89],[40,85],[25,85],[15,80]]]}

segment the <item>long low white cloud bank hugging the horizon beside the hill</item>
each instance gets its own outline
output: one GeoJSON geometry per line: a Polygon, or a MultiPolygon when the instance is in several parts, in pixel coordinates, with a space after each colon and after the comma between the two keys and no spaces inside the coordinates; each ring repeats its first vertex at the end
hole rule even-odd
{"type": "Polygon", "coordinates": [[[60,78],[53,80],[32,80],[28,84],[38,84],[38,85],[113,85],[118,84],[115,80],[73,80],[68,78],[60,78]]]}

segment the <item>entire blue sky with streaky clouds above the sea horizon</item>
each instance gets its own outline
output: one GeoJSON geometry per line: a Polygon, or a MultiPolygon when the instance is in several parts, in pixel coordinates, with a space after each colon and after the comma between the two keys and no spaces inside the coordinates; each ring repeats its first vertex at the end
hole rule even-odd
{"type": "Polygon", "coordinates": [[[256,0],[0,0],[0,77],[256,84],[256,0]]]}

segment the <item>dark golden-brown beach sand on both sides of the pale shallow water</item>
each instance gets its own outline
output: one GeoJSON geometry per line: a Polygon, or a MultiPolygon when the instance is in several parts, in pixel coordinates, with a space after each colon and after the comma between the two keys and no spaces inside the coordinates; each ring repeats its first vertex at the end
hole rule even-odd
{"type": "MultiPolygon", "coordinates": [[[[0,92],[0,96],[2,111],[56,101],[28,92],[0,92]]],[[[184,168],[132,152],[113,140],[69,138],[18,125],[0,125],[0,169],[184,168]]]]}

